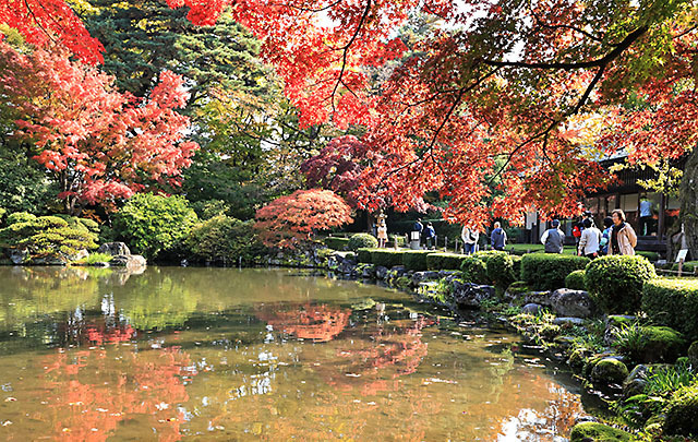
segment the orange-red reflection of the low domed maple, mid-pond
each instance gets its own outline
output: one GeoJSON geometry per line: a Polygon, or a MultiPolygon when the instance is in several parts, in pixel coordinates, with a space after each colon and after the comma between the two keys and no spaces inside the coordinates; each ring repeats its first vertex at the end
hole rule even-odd
{"type": "Polygon", "coordinates": [[[303,304],[279,311],[275,306],[258,310],[256,315],[284,333],[302,339],[326,343],[334,339],[349,323],[351,310],[329,306],[303,304]]]}

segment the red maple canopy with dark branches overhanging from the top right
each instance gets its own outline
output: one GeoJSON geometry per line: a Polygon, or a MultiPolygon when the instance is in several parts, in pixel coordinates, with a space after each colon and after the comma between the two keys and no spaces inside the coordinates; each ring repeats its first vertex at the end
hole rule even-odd
{"type": "Polygon", "coordinates": [[[365,208],[385,198],[405,208],[437,191],[448,219],[473,226],[533,207],[571,215],[612,179],[597,163],[604,155],[627,148],[630,162],[651,164],[695,144],[690,0],[168,3],[189,7],[196,24],[228,8],[262,40],[301,124],[364,127],[361,141],[382,158],[359,179],[365,208]],[[420,12],[442,25],[407,47],[397,31],[420,12]],[[390,60],[387,80],[370,87],[371,69],[390,60]],[[631,97],[648,106],[628,108],[631,97]],[[590,136],[598,115],[610,124],[590,136]],[[609,131],[634,135],[600,142],[609,131]]]}

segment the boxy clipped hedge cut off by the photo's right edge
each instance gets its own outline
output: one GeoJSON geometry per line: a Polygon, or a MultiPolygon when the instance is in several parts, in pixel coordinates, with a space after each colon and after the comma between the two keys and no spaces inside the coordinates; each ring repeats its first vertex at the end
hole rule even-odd
{"type": "Polygon", "coordinates": [[[652,322],[698,339],[698,279],[647,280],[642,286],[642,310],[652,322]]]}

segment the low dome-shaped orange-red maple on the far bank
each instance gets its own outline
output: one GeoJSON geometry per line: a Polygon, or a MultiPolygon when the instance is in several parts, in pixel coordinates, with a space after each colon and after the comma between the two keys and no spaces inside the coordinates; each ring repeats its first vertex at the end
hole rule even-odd
{"type": "Polygon", "coordinates": [[[350,223],[351,208],[330,190],[297,190],[260,208],[255,217],[262,241],[292,248],[315,230],[350,223]]]}

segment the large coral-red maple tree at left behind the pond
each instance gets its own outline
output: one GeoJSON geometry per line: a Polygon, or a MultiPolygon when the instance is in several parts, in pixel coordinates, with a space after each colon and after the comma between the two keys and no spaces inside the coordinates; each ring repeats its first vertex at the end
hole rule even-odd
{"type": "Polygon", "coordinates": [[[177,182],[197,148],[184,141],[189,118],[177,111],[188,94],[168,71],[139,103],[60,50],[25,55],[0,44],[0,91],[2,107],[16,116],[15,136],[34,141],[34,158],[55,176],[71,214],[177,182]]]}

